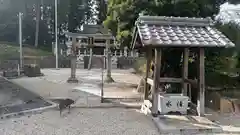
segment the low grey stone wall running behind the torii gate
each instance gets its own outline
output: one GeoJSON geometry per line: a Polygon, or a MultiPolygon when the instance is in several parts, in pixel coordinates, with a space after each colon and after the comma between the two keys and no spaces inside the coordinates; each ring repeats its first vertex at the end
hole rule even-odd
{"type": "MultiPolygon", "coordinates": [[[[92,68],[102,68],[102,61],[104,58],[95,57],[93,56],[92,59],[92,68]],[[101,61],[102,60],[102,61],[101,61]]],[[[84,63],[83,66],[85,69],[88,66],[89,56],[84,56],[84,60],[81,62],[84,63]]],[[[117,58],[117,62],[115,63],[116,66],[112,66],[112,68],[119,68],[119,69],[129,69],[133,68],[134,63],[136,62],[136,58],[134,57],[119,57],[117,58]]],[[[24,64],[38,64],[40,68],[55,68],[56,66],[56,58],[55,56],[48,56],[48,57],[27,57],[23,60],[24,64]]],[[[59,68],[70,68],[70,59],[68,57],[60,57],[59,58],[59,68]]],[[[0,70],[7,70],[7,69],[17,69],[19,64],[19,60],[5,60],[0,61],[0,70]]],[[[112,63],[114,64],[114,63],[112,63]]]]}

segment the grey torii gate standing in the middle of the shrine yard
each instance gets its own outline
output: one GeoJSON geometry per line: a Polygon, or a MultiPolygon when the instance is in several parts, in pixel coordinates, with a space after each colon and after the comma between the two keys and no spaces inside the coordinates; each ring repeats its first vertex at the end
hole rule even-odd
{"type": "MultiPolygon", "coordinates": [[[[76,78],[76,62],[77,62],[77,48],[85,46],[88,48],[94,47],[104,47],[107,52],[107,75],[105,78],[106,82],[113,82],[114,80],[111,77],[111,52],[110,47],[114,44],[114,37],[108,30],[106,30],[101,25],[84,25],[83,31],[79,33],[67,32],[66,36],[72,41],[71,48],[71,76],[67,80],[68,83],[78,83],[76,78]],[[84,42],[87,41],[87,42],[84,42]],[[103,41],[99,43],[96,41],[103,41]]],[[[91,55],[92,54],[92,51],[91,55]]],[[[91,59],[91,58],[90,58],[91,59]]],[[[105,58],[104,58],[105,59],[105,58]]]]}

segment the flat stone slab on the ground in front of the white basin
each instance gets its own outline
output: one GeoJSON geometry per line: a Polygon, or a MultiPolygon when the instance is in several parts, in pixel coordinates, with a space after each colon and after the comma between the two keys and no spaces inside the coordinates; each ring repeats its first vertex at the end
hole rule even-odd
{"type": "Polygon", "coordinates": [[[162,134],[213,134],[223,131],[216,123],[199,116],[160,115],[153,121],[162,134]]]}

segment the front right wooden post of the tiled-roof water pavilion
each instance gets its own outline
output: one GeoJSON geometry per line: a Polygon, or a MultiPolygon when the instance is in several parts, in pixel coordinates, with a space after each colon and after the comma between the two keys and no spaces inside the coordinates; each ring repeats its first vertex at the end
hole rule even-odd
{"type": "Polygon", "coordinates": [[[199,50],[199,78],[198,78],[198,104],[197,110],[199,116],[205,114],[205,66],[204,66],[204,48],[199,50]]]}

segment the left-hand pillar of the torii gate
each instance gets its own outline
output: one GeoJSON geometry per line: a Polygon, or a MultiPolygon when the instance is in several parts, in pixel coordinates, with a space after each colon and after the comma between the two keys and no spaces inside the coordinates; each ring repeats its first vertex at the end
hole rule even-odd
{"type": "Polygon", "coordinates": [[[72,37],[72,52],[71,52],[71,76],[67,80],[68,83],[78,83],[78,80],[76,78],[76,62],[77,62],[77,56],[76,56],[76,37],[72,37]]]}

